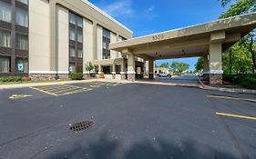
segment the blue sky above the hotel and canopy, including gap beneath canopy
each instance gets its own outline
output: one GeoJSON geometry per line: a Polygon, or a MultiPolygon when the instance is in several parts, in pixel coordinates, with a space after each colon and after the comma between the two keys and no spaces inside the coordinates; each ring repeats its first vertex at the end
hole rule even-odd
{"type": "MultiPolygon", "coordinates": [[[[150,35],[189,25],[217,20],[227,10],[218,0],[89,0],[134,32],[133,37],[150,35]]],[[[184,62],[194,70],[198,58],[157,61],[184,62]]]]}

